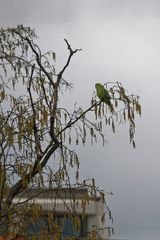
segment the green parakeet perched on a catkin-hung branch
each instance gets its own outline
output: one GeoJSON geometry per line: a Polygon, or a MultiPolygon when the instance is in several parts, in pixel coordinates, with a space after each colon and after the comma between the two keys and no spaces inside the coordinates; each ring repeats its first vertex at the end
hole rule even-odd
{"type": "Polygon", "coordinates": [[[113,110],[113,105],[111,104],[111,96],[109,95],[107,89],[101,83],[96,83],[95,88],[97,90],[97,96],[102,102],[105,102],[113,110]]]}

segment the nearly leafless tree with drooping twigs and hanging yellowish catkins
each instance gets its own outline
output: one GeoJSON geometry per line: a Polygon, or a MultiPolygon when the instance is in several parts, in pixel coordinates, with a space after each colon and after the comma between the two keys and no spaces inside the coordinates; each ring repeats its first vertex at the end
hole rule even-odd
{"type": "MultiPolygon", "coordinates": [[[[36,38],[34,30],[22,25],[0,29],[1,222],[12,222],[13,199],[28,188],[71,188],[68,168],[75,169],[74,187],[87,185],[79,182],[79,158],[71,144],[85,145],[89,136],[92,143],[98,136],[105,142],[104,124],[115,132],[116,122],[128,122],[135,147],[135,114],[141,115],[138,96],[127,95],[120,82],[106,83],[114,108],[99,101],[94,91],[88,108],[70,112],[65,103],[59,104],[61,91],[72,88],[63,76],[81,49],[73,50],[65,39],[69,55],[57,73],[55,53],[42,53],[36,38]]],[[[88,187],[96,189],[94,181],[88,187]]]]}

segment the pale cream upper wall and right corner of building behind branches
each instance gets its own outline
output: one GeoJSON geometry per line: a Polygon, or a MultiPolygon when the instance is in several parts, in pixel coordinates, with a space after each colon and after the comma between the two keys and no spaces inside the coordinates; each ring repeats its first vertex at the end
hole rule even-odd
{"type": "Polygon", "coordinates": [[[35,191],[28,191],[22,196],[17,196],[14,199],[14,203],[17,203],[18,201],[24,202],[28,197],[31,197],[31,201],[34,199],[37,204],[41,205],[44,212],[53,211],[57,216],[63,216],[68,212],[68,209],[75,208],[76,214],[80,217],[83,216],[83,220],[85,219],[83,231],[89,232],[91,229],[96,229],[98,235],[102,239],[106,239],[107,230],[105,228],[106,226],[102,223],[105,205],[99,198],[95,200],[90,199],[86,202],[84,211],[84,204],[82,204],[85,199],[84,194],[86,194],[86,190],[75,192],[72,190],[72,193],[70,194],[68,190],[61,189],[56,195],[55,191],[38,193],[38,190],[36,189],[35,191]]]}

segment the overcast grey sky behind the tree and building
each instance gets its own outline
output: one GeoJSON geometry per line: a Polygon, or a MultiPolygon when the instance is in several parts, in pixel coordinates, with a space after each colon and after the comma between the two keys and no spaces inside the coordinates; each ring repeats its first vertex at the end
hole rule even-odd
{"type": "Polygon", "coordinates": [[[108,144],[78,148],[81,174],[113,191],[109,205],[116,236],[160,238],[160,1],[156,0],[0,0],[2,27],[36,29],[44,50],[67,54],[64,38],[83,51],[74,56],[66,80],[74,83],[68,104],[89,104],[95,82],[121,81],[141,97],[136,143],[125,126],[107,130],[108,144]],[[86,167],[87,166],[87,167],[86,167]]]}

